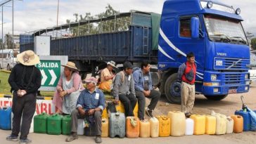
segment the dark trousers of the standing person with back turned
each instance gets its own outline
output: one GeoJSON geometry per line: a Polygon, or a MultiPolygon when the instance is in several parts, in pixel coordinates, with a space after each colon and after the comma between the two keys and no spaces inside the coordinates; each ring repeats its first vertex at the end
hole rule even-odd
{"type": "Polygon", "coordinates": [[[28,93],[23,97],[17,96],[17,93],[13,93],[13,129],[11,134],[18,136],[20,133],[20,139],[27,138],[30,132],[30,124],[34,112],[36,110],[37,93],[28,93]],[[23,123],[20,129],[20,119],[23,116],[23,123]]]}

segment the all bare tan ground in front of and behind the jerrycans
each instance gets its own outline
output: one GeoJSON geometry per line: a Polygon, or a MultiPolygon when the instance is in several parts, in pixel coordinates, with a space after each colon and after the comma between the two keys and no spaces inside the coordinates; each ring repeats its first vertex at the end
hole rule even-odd
{"type": "MultiPolygon", "coordinates": [[[[252,84],[250,87],[250,91],[248,93],[242,94],[231,94],[221,101],[213,101],[207,100],[202,95],[196,95],[195,107],[193,109],[194,114],[210,114],[212,110],[215,112],[226,114],[229,116],[233,114],[236,110],[241,110],[242,103],[240,96],[244,96],[245,104],[250,107],[252,110],[256,110],[256,84],[252,84]]],[[[146,101],[149,103],[149,100],[146,101]]],[[[180,110],[180,105],[174,105],[167,103],[165,97],[160,99],[160,102],[157,105],[156,110],[153,114],[167,114],[169,111],[177,111],[180,110]]],[[[10,134],[11,131],[3,131],[0,130],[0,143],[1,144],[11,144],[18,142],[11,142],[5,140],[6,136],[10,134]]],[[[29,138],[33,143],[44,144],[44,143],[54,143],[54,144],[62,144],[65,143],[66,136],[54,136],[47,134],[39,134],[39,133],[30,133],[29,138]]],[[[88,138],[86,136],[79,136],[78,140],[74,140],[71,143],[94,143],[94,137],[88,138]]],[[[165,138],[103,138],[103,143],[126,143],[126,144],[134,144],[134,143],[158,143],[158,144],[166,144],[166,143],[189,143],[189,144],[205,144],[205,143],[246,143],[252,144],[256,143],[256,132],[248,131],[243,133],[232,133],[226,134],[222,136],[209,136],[209,135],[201,135],[201,136],[181,136],[181,137],[165,137],[165,138]]]]}

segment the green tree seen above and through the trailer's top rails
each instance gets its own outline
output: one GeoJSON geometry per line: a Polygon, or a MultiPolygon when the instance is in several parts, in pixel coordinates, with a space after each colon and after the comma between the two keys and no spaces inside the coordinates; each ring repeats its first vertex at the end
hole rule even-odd
{"type": "MultiPolygon", "coordinates": [[[[119,13],[115,11],[115,9],[108,4],[105,6],[105,11],[103,13],[99,13],[95,15],[95,18],[101,19],[106,18],[110,15],[115,15],[119,13]]],[[[84,20],[93,20],[94,17],[91,16],[91,13],[86,13],[85,16],[79,15],[74,13],[75,21],[74,22],[81,22],[84,20]]],[[[74,36],[86,35],[86,34],[98,34],[103,32],[116,32],[116,31],[123,31],[128,30],[130,25],[130,18],[116,18],[112,20],[101,21],[97,23],[89,23],[87,25],[79,25],[79,27],[71,27],[70,32],[74,36]]],[[[71,23],[71,20],[66,20],[67,23],[71,23]]]]}

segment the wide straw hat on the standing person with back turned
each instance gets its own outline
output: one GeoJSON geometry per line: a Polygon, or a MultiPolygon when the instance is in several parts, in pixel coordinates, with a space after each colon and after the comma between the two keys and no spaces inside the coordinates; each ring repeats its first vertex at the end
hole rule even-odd
{"type": "Polygon", "coordinates": [[[37,65],[40,63],[40,58],[34,51],[23,51],[17,55],[17,61],[23,65],[37,65]]]}

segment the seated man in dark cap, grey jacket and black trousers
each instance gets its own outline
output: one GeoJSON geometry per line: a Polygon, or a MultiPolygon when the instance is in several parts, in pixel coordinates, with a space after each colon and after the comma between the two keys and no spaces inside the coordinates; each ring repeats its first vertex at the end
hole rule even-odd
{"type": "Polygon", "coordinates": [[[124,62],[124,70],[118,72],[113,81],[114,103],[119,100],[124,104],[125,116],[134,116],[134,107],[137,103],[134,89],[134,77],[132,76],[132,63],[124,62]]]}

